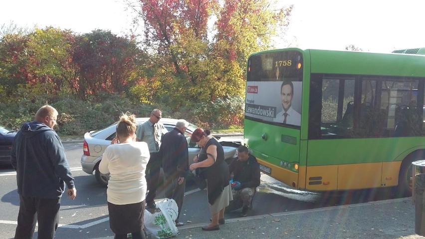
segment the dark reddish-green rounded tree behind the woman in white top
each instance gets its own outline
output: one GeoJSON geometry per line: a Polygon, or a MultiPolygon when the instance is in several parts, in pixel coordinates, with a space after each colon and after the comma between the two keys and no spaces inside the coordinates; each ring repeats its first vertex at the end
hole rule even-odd
{"type": "Polygon", "coordinates": [[[76,37],[73,62],[78,68],[78,95],[97,96],[99,92],[123,94],[129,82],[137,83],[136,62],[140,50],[135,41],[111,31],[94,30],[76,37]]]}

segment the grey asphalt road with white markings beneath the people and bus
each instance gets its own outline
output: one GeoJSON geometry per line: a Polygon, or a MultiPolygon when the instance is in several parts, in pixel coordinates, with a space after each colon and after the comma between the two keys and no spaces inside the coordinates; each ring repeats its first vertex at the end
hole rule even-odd
{"type": "MultiPolygon", "coordinates": [[[[94,239],[113,236],[109,229],[106,188],[97,184],[94,175],[81,170],[82,144],[64,144],[69,165],[77,188],[77,198],[62,197],[60,228],[56,238],[94,239]],[[70,236],[72,235],[72,236],[70,236]]],[[[329,206],[357,204],[387,199],[385,191],[362,190],[343,194],[325,195],[293,190],[286,185],[261,175],[261,186],[254,198],[249,216],[308,210],[329,206]]],[[[158,199],[163,198],[160,192],[158,199]]],[[[180,222],[205,223],[210,219],[206,191],[189,185],[180,222]]],[[[11,239],[16,228],[19,197],[16,192],[16,175],[11,167],[0,167],[0,239],[11,239]]],[[[225,219],[238,218],[237,211],[225,219]]],[[[36,238],[36,237],[34,237],[36,238]]]]}

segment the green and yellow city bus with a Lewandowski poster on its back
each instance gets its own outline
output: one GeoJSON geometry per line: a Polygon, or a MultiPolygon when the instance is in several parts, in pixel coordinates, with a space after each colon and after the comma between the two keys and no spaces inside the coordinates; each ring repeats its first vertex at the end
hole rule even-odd
{"type": "MultiPolygon", "coordinates": [[[[425,55],[287,48],[247,61],[244,139],[295,189],[395,187],[425,159],[425,55]]],[[[396,187],[397,186],[397,187],[396,187]]]]}

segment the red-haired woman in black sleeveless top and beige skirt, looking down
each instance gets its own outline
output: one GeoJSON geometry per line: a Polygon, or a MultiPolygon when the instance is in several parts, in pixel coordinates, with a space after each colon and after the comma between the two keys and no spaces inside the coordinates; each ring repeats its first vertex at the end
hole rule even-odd
{"type": "Polygon", "coordinates": [[[233,200],[230,187],[229,168],[224,161],[223,147],[213,137],[210,131],[196,129],[191,137],[192,142],[201,146],[201,152],[194,158],[190,170],[202,168],[202,175],[207,179],[208,202],[212,215],[211,223],[202,227],[204,231],[219,230],[218,224],[224,224],[224,209],[233,200]]]}

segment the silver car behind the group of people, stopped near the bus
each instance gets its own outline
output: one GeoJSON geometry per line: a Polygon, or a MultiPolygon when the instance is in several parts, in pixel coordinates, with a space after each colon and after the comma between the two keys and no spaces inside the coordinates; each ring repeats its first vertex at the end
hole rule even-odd
{"type": "MultiPolygon", "coordinates": [[[[149,118],[136,118],[137,124],[142,124],[149,120],[149,118]]],[[[168,131],[174,129],[177,119],[161,118],[161,122],[168,131]]],[[[106,147],[111,144],[112,139],[115,137],[117,123],[113,123],[104,128],[89,131],[84,134],[83,142],[83,155],[81,156],[81,167],[84,172],[93,174],[95,172],[96,180],[103,186],[108,185],[109,174],[102,174],[99,172],[98,167],[100,160],[102,160],[103,152],[106,147]]],[[[199,153],[200,147],[193,142],[190,142],[192,132],[198,127],[190,124],[185,132],[186,139],[188,140],[189,151],[189,165],[194,163],[193,159],[199,153]]],[[[225,137],[215,137],[218,142],[223,146],[224,159],[226,161],[236,157],[236,150],[242,144],[240,139],[232,139],[225,137]]]]}

